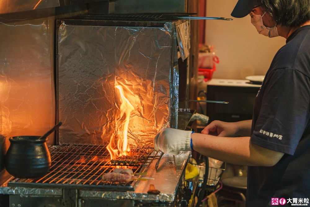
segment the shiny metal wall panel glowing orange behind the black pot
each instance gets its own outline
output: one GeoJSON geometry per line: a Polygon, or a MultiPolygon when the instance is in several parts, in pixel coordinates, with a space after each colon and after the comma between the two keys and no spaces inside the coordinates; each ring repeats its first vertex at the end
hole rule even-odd
{"type": "MultiPolygon", "coordinates": [[[[0,16],[3,137],[42,136],[55,125],[54,10],[0,16]]],[[[47,144],[54,144],[50,137],[47,144]]]]}

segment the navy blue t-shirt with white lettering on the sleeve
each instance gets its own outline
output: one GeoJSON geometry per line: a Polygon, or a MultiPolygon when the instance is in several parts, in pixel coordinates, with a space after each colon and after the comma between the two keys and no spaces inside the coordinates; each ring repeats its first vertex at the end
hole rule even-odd
{"type": "MultiPolygon", "coordinates": [[[[275,55],[254,103],[251,142],[285,153],[272,167],[248,167],[247,206],[272,198],[310,206],[310,25],[275,55]]],[[[274,204],[274,203],[273,203],[274,204]]],[[[280,205],[281,206],[281,205],[280,205]]]]}

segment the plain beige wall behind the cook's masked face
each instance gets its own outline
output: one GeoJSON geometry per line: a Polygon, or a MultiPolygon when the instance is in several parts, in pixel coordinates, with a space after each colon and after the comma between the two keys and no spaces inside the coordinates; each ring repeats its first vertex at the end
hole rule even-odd
{"type": "MultiPolygon", "coordinates": [[[[207,0],[206,16],[230,16],[237,0],[207,0]]],[[[273,56],[284,44],[282,37],[258,34],[250,16],[232,21],[205,20],[205,43],[215,47],[219,64],[213,78],[244,79],[248,75],[265,75],[273,56]]]]}

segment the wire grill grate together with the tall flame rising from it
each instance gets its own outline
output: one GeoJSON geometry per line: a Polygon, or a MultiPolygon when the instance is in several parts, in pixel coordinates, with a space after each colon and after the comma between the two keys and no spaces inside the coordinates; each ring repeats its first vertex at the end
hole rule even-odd
{"type": "Polygon", "coordinates": [[[82,189],[108,190],[112,187],[114,190],[132,190],[132,182],[106,182],[101,178],[104,173],[112,172],[115,168],[131,169],[133,173],[140,171],[143,173],[143,169],[155,158],[155,155],[151,156],[152,147],[139,146],[133,150],[130,149],[127,141],[128,124],[131,111],[135,108],[125,97],[122,86],[116,85],[115,88],[118,89],[120,97],[120,105],[117,106],[120,113],[116,119],[118,123],[116,134],[119,134],[117,140],[111,137],[108,146],[90,144],[54,146],[55,149],[51,150],[51,169],[46,176],[39,179],[15,179],[11,185],[22,183],[23,186],[44,186],[50,184],[56,187],[74,185],[82,189]],[[115,145],[116,141],[117,145],[115,145]],[[118,160],[121,157],[127,157],[129,161],[118,160]]]}

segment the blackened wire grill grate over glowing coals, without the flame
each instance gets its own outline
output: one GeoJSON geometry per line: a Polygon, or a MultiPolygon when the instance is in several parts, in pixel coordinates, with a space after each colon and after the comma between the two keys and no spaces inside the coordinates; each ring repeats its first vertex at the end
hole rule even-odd
{"type": "MultiPolygon", "coordinates": [[[[15,178],[8,183],[14,187],[56,187],[85,190],[128,191],[134,190],[134,181],[112,183],[102,180],[104,173],[112,172],[116,164],[111,164],[110,154],[105,145],[63,144],[52,146],[51,169],[42,178],[15,178]]],[[[136,155],[144,155],[143,160],[133,164],[121,164],[134,173],[143,173],[150,162],[155,159],[153,147],[139,146],[131,149],[136,155]]]]}

